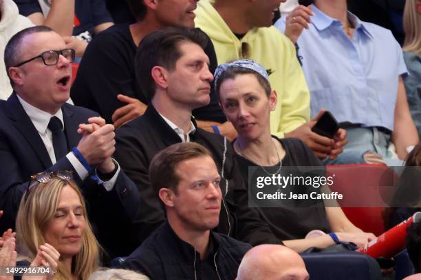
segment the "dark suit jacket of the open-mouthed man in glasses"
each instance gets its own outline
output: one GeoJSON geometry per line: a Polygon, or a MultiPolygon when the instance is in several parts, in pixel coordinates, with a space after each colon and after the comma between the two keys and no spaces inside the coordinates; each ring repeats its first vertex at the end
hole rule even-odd
{"type": "MultiPolygon", "coordinates": [[[[87,124],[89,117],[98,114],[69,104],[64,104],[62,110],[68,147],[72,149],[81,138],[77,133],[78,125],[87,124]]],[[[73,170],[74,180],[83,192],[89,220],[98,240],[111,252],[111,256],[120,255],[117,240],[122,234],[118,222],[129,222],[136,215],[140,202],[136,185],[124,172],[120,172],[114,189],[106,191],[89,176],[82,181],[67,157],[58,159],[53,165],[16,93],[7,101],[0,100],[0,163],[0,209],[4,210],[0,219],[0,233],[8,228],[14,229],[19,202],[28,188],[31,175],[43,171],[73,170]]]]}

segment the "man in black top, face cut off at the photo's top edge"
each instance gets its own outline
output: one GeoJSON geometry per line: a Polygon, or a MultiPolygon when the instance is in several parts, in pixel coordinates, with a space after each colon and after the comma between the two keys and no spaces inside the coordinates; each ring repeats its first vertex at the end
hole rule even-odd
{"type": "MultiPolygon", "coordinates": [[[[194,27],[194,10],[198,0],[128,0],[137,22],[115,25],[89,43],[78,75],[72,85],[75,104],[100,113],[107,123],[116,128],[144,113],[151,100],[142,92],[135,76],[133,60],[144,36],[165,27],[194,27]]],[[[208,40],[206,54],[210,70],[217,67],[213,45],[208,40]]],[[[193,110],[197,125],[208,131],[221,133],[233,139],[233,126],[217,104],[212,89],[210,103],[193,110]]]]}

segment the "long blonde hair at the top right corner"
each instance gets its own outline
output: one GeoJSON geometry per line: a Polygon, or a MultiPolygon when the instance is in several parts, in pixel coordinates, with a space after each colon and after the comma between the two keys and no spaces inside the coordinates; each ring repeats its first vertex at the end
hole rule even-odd
{"type": "Polygon", "coordinates": [[[421,56],[421,14],[415,10],[415,3],[420,0],[407,0],[404,8],[403,25],[405,40],[404,51],[412,51],[421,56]]]}

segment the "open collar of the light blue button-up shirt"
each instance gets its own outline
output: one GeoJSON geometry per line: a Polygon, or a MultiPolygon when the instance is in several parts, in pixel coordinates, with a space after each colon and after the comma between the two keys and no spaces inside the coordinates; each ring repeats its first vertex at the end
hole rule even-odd
{"type": "MultiPolygon", "coordinates": [[[[323,13],[316,7],[316,5],[312,5],[312,11],[314,12],[314,16],[312,16],[312,23],[317,30],[325,30],[333,25],[341,25],[342,27],[341,21],[339,21],[338,19],[333,19],[327,14],[323,13]]],[[[369,38],[373,38],[371,33],[364,26],[363,21],[360,21],[360,19],[358,19],[358,17],[355,14],[352,14],[352,12],[348,11],[347,18],[352,23],[352,26],[354,26],[357,32],[367,34],[369,38]]]]}

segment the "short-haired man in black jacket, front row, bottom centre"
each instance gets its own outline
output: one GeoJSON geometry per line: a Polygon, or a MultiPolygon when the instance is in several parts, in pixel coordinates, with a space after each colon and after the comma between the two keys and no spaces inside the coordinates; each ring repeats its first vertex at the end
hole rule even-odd
{"type": "Polygon", "coordinates": [[[151,161],[149,177],[167,222],[123,267],[151,279],[235,279],[251,246],[211,231],[219,223],[222,190],[210,152],[197,143],[170,145],[151,161]]]}

